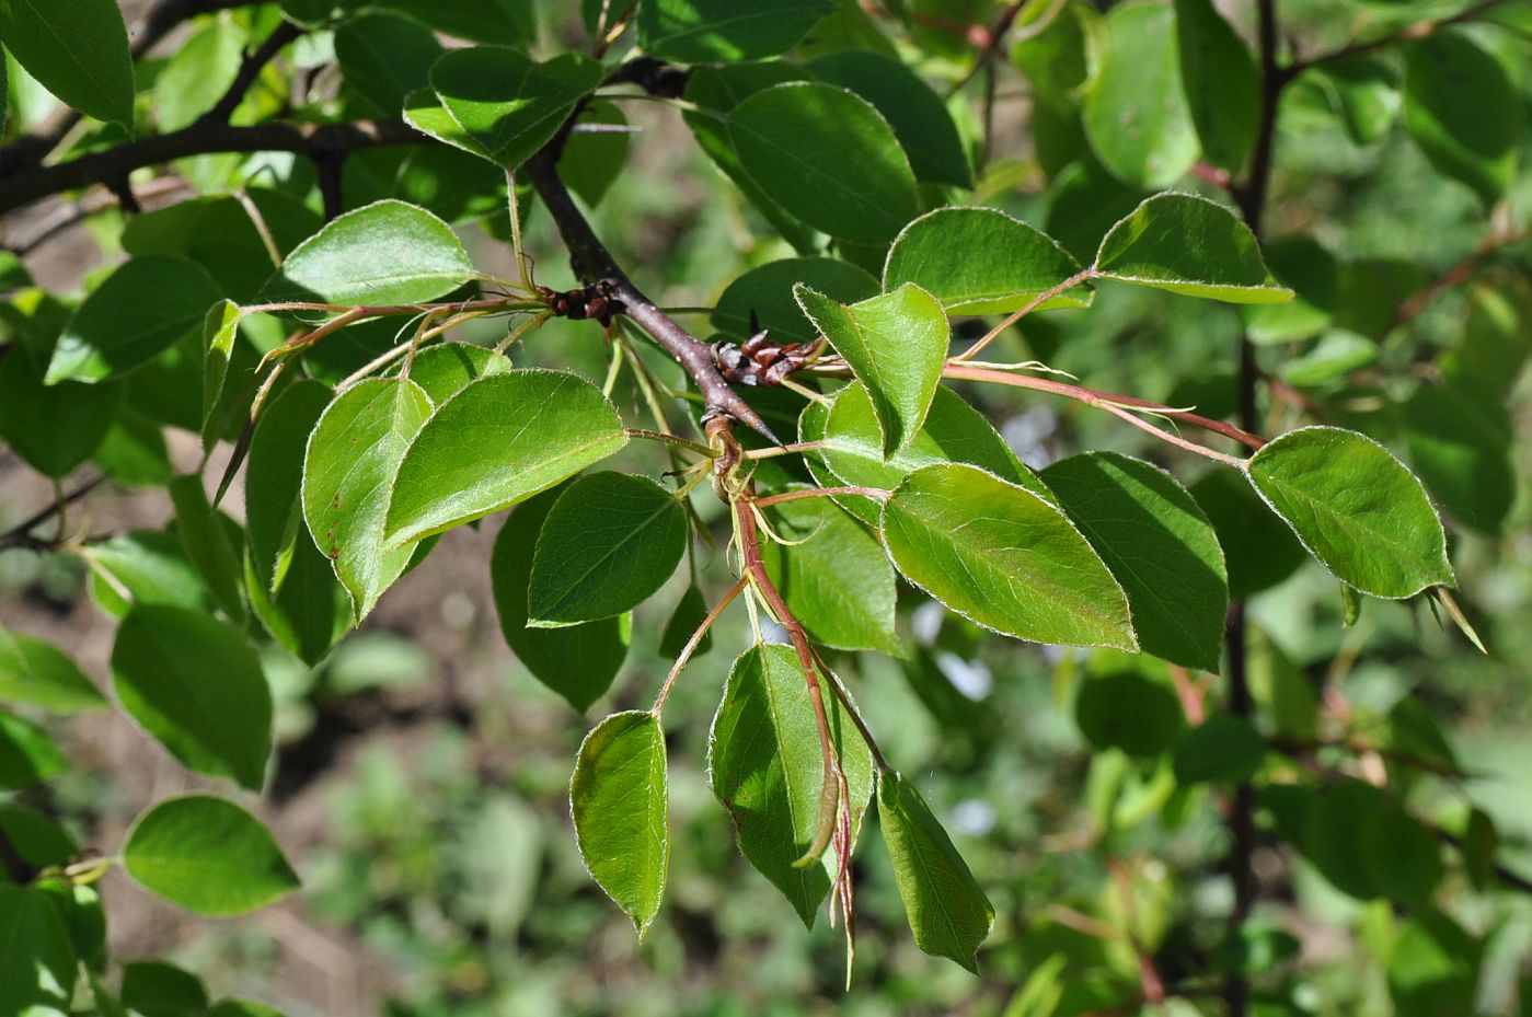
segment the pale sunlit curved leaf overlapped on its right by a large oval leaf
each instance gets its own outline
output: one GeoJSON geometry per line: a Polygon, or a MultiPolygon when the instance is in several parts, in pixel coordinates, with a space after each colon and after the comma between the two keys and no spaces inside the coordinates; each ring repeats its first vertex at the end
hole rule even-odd
{"type": "Polygon", "coordinates": [[[303,456],[303,519],[334,564],[360,622],[404,571],[415,548],[385,547],[389,490],[430,400],[406,378],[369,378],[320,415],[303,456]]]}

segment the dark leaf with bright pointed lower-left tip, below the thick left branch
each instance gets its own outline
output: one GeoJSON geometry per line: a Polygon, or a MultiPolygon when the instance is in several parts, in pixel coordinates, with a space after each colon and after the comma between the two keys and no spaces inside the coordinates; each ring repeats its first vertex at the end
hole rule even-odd
{"type": "Polygon", "coordinates": [[[101,381],[142,366],[202,325],[222,296],[211,276],[185,259],[124,262],[69,319],[43,383],[101,381]]]}

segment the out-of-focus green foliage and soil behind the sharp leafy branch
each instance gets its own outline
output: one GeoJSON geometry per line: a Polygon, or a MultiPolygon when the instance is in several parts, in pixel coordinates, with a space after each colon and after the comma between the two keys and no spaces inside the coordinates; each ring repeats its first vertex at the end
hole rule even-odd
{"type": "MultiPolygon", "coordinates": [[[[574,5],[512,6],[535,18],[547,47],[581,38],[574,5]]],[[[976,57],[965,29],[993,25],[1003,5],[910,6],[913,35],[893,31],[881,8],[869,15],[843,3],[798,55],[873,32],[945,90],[976,57]]],[[[1322,51],[1357,25],[1397,21],[1403,15],[1393,8],[1420,18],[1442,5],[1295,0],[1281,5],[1281,17],[1291,38],[1322,51]]],[[[1532,103],[1532,17],[1526,3],[1504,11],[1512,28],[1475,31],[1504,54],[1524,110],[1532,103]]],[[[1226,12],[1249,37],[1250,6],[1235,2],[1226,12]]],[[[207,72],[199,61],[227,60],[230,44],[237,52],[239,40],[260,38],[273,15],[268,5],[202,18],[185,44],[146,60],[141,74],[155,80],[158,116],[173,118],[173,100],[198,87],[207,72]],[[234,41],[221,41],[224,35],[234,41]]],[[[293,60],[319,67],[331,46],[328,34],[311,34],[293,60]]],[[[1088,257],[1138,195],[1083,149],[1079,110],[1034,101],[1033,81],[1000,57],[988,136],[987,75],[948,101],[970,150],[993,153],[977,201],[1014,211],[1088,257]]],[[[574,852],[568,773],[594,718],[653,695],[668,666],[660,634],[683,577],[637,611],[613,692],[578,717],[504,648],[483,574],[499,525],[490,521],[443,541],[365,629],[319,666],[276,648],[265,654],[282,747],[270,800],[256,807],[294,858],[305,893],[257,921],[221,924],[173,914],[109,876],[103,894],[110,898],[113,956],[165,959],[196,971],[211,999],[262,999],[291,1017],[1042,1017],[1129,1014],[1140,1005],[1178,1017],[1219,1012],[1209,997],[1221,974],[1236,968],[1253,974],[1261,1014],[1532,1012],[1532,896],[1524,881],[1517,888],[1491,871],[1498,864],[1532,876],[1532,444],[1512,441],[1526,435],[1532,384],[1515,374],[1514,358],[1491,361],[1486,369],[1509,389],[1506,410],[1478,406],[1488,423],[1477,430],[1451,406],[1437,426],[1432,407],[1416,397],[1445,360],[1468,357],[1474,343],[1524,351],[1532,250],[1524,239],[1498,248],[1466,285],[1442,291],[1403,328],[1388,328],[1402,300],[1469,256],[1486,231],[1509,233],[1512,210],[1524,217],[1532,178],[1517,178],[1486,230],[1477,196],[1435,173],[1394,126],[1397,54],[1379,52],[1377,63],[1383,84],[1371,100],[1382,129],[1359,127],[1347,106],[1356,96],[1319,80],[1299,81],[1281,109],[1267,247],[1282,280],[1313,297],[1318,328],[1293,326],[1276,312],[1252,319],[1158,291],[1102,286],[1089,312],[1028,319],[996,360],[1039,358],[1094,388],[1195,404],[1216,417],[1233,410],[1238,335],[1252,323],[1265,337],[1262,368],[1288,392],[1262,406],[1262,430],[1311,420],[1321,404],[1337,423],[1403,449],[1458,524],[1451,528],[1452,561],[1489,656],[1443,631],[1419,603],[1368,600],[1359,620],[1344,625],[1337,584],[1301,554],[1287,561],[1287,533],[1252,525],[1249,505],[1224,476],[1200,476],[1200,464],[1146,447],[1140,432],[1111,417],[1042,395],[964,392],[1034,469],[1085,449],[1166,463],[1229,536],[1232,571],[1241,544],[1259,547],[1247,556],[1244,577],[1255,591],[1250,682],[1256,726],[1281,750],[1258,749],[1247,766],[1227,758],[1213,766],[1221,775],[1242,767],[1258,795],[1253,868],[1261,899],[1242,936],[1224,934],[1232,890],[1221,871],[1229,852],[1221,812],[1232,792],[1189,778],[1206,758],[1189,749],[1186,705],[1210,708],[1221,694],[1216,685],[1209,689],[1206,675],[1177,675],[1146,660],[982,637],[962,619],[904,596],[907,659],[864,654],[836,663],[892,761],[916,781],[996,904],[982,977],[915,948],[887,856],[864,835],[856,977],[843,992],[838,933],[821,919],[806,934],[791,905],[735,850],[703,758],[728,663],[749,639],[743,616],[715,629],[712,652],[692,665],[671,700],[671,890],[636,945],[574,852]],[[1339,271],[1327,289],[1316,265],[1328,262],[1339,271]],[[1321,276],[1313,289],[1302,285],[1305,273],[1321,276]],[[1414,852],[1423,827],[1394,824],[1396,803],[1465,849],[1439,855],[1428,836],[1423,855],[1414,852]],[[1486,849],[1486,832],[1498,852],[1486,849]],[[1151,1006],[1135,997],[1134,986],[1149,985],[1146,968],[1164,983],[1189,986],[1190,999],[1151,1006]]],[[[11,81],[15,130],[41,115],[43,100],[29,93],[14,63],[11,81]]],[[[288,87],[280,77],[270,86],[279,98],[288,87]]],[[[260,89],[247,100],[253,107],[274,101],[260,89]]],[[[358,100],[342,93],[329,101],[358,100]]],[[[594,191],[610,185],[594,213],[597,231],[640,285],[671,305],[711,306],[746,268],[792,254],[769,239],[758,213],[717,175],[673,112],[643,104],[625,112],[642,133],[604,139],[588,173],[594,191]]],[[[81,146],[106,144],[112,130],[81,146]]],[[[1529,141],[1521,142],[1523,164],[1529,141]]],[[[366,201],[369,187],[381,193],[391,185],[398,167],[389,159],[397,156],[380,150],[349,161],[352,204],[366,201]]],[[[273,159],[254,173],[241,162],[210,156],[179,172],[193,187],[218,190],[239,168],[273,195],[313,201],[305,164],[273,159]]],[[[453,178],[427,167],[418,181],[429,190],[453,178]]],[[[1210,184],[1195,185],[1221,196],[1210,184]]],[[[490,181],[461,201],[435,193],[432,207],[455,201],[453,217],[476,262],[509,273],[495,190],[490,181]],[[484,230],[472,228],[478,221],[484,230]]],[[[49,286],[78,288],[118,257],[119,233],[118,213],[106,210],[29,256],[28,268],[49,286]]],[[[573,283],[552,224],[535,210],[529,250],[539,282],[573,283]]],[[[8,314],[8,332],[26,326],[8,314]]],[[[483,338],[498,335],[486,326],[483,338]]],[[[524,343],[521,360],[599,381],[607,351],[597,329],[555,320],[524,343]]],[[[680,383],[663,357],[650,357],[650,366],[680,383]]],[[[349,369],[337,363],[336,377],[349,369]]],[[[90,515],[113,525],[162,525],[162,505],[133,493],[133,470],[158,476],[161,461],[184,459],[188,449],[175,438],[169,450],[150,441],[147,458],[138,459],[124,443],[119,458],[101,463],[118,484],[90,515]]],[[[0,459],[0,524],[51,496],[9,458],[0,459]]],[[[722,590],[722,551],[700,565],[703,582],[722,590]]],[[[179,576],[175,582],[196,582],[175,567],[165,564],[179,576]]],[[[110,625],[87,585],[74,559],[0,553],[0,622],[69,645],[100,674],[110,625]]],[[[18,801],[46,800],[84,844],[116,842],[147,800],[196,786],[121,718],[87,718],[60,734],[84,763],[18,801]]],[[[1198,747],[1206,755],[1207,746],[1198,747]]],[[[1238,738],[1219,747],[1236,752],[1238,738]]],[[[5,809],[0,796],[0,821],[5,809]]],[[[149,1017],[207,1006],[201,989],[173,971],[129,968],[129,977],[158,986],[142,989],[149,1017]]],[[[130,994],[124,986],[124,999],[130,994]]]]}

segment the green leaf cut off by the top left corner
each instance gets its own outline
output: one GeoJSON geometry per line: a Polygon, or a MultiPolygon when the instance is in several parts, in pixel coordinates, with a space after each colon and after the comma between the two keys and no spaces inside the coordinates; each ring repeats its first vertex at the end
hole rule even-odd
{"type": "Polygon", "coordinates": [[[0,38],[28,74],[69,106],[132,126],[133,60],[113,0],[6,0],[0,38]]]}

